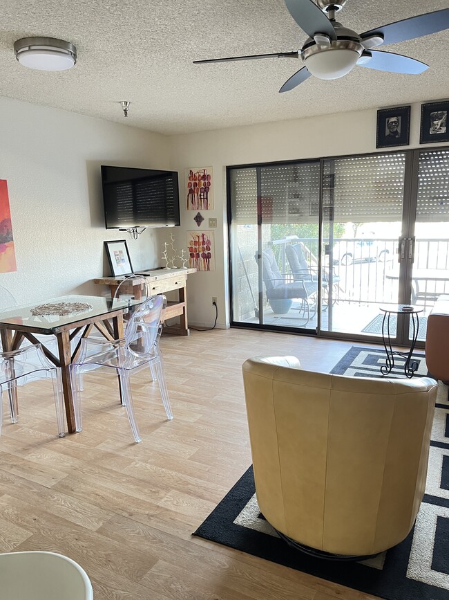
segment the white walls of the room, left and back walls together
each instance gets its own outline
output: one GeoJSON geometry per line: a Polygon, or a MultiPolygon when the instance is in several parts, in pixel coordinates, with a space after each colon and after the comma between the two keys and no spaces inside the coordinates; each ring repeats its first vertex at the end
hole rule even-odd
{"type": "MultiPolygon", "coordinates": [[[[105,239],[127,239],[135,269],[162,266],[169,233],[187,248],[187,230],[208,229],[216,217],[216,271],[189,276],[189,321],[229,323],[225,177],[228,165],[375,152],[376,111],[340,113],[171,138],[115,123],[0,98],[0,179],[8,181],[16,273],[0,273],[19,302],[66,293],[106,293],[91,283],[109,273],[105,239]],[[187,167],[213,166],[215,208],[184,209],[181,227],[147,229],[138,240],[104,228],[99,165],[175,169],[184,189],[187,167]]],[[[412,106],[410,146],[419,146],[419,104],[412,106]]],[[[276,118],[276,116],[274,116],[276,118]]],[[[427,145],[430,148],[432,145],[427,145]]]]}

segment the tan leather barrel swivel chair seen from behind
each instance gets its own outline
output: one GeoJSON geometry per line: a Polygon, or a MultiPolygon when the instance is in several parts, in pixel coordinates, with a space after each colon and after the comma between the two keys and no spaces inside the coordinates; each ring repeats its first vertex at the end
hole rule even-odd
{"type": "Polygon", "coordinates": [[[301,547],[371,556],[410,532],[426,484],[433,379],[300,370],[293,356],[243,365],[260,511],[301,547]]]}

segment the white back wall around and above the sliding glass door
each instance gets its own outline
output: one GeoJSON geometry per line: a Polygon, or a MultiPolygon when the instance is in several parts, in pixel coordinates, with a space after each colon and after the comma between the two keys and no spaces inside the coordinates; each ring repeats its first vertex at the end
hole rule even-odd
{"type": "MultiPolygon", "coordinates": [[[[410,145],[419,147],[420,104],[412,105],[410,145]]],[[[274,116],[275,118],[275,116],[274,116]]],[[[432,145],[426,145],[431,148],[432,145]]],[[[188,167],[213,166],[214,210],[201,211],[205,220],[201,229],[209,229],[209,217],[217,217],[216,271],[190,275],[187,286],[189,322],[211,325],[215,312],[212,296],[218,298],[218,327],[229,325],[226,167],[249,163],[342,156],[376,152],[376,111],[359,111],[236,127],[220,131],[205,131],[171,138],[171,167],[180,172],[180,192],[183,192],[184,170],[188,167]]],[[[384,149],[379,152],[385,152],[384,149]]],[[[175,245],[185,248],[186,231],[197,230],[193,217],[196,211],[184,209],[181,201],[181,227],[175,228],[175,245]]]]}

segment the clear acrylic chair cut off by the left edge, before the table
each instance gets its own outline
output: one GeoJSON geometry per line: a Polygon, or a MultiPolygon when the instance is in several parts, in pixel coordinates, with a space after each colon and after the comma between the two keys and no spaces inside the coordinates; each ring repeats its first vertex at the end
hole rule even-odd
{"type": "Polygon", "coordinates": [[[32,344],[18,350],[12,350],[12,352],[0,352],[0,434],[3,391],[8,390],[11,422],[17,423],[18,410],[15,403],[17,383],[32,381],[35,379],[35,374],[37,373],[52,380],[58,434],[59,437],[64,437],[64,404],[61,370],[50,363],[44,354],[41,344],[32,344]]]}

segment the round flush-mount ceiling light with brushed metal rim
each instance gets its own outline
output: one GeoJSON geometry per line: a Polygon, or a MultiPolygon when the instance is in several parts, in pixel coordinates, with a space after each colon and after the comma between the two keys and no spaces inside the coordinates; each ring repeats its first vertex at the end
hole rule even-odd
{"type": "Polygon", "coordinates": [[[66,71],[77,62],[77,48],[54,37],[22,37],[14,51],[20,64],[39,71],[66,71]]]}

